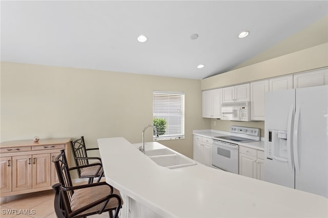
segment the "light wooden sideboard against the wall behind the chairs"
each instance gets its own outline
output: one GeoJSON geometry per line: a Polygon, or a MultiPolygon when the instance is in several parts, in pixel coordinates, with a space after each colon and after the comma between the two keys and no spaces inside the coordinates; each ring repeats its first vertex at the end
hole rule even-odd
{"type": "Polygon", "coordinates": [[[52,161],[65,149],[69,162],[69,142],[69,138],[1,142],[0,197],[51,189],[58,183],[52,161]]]}

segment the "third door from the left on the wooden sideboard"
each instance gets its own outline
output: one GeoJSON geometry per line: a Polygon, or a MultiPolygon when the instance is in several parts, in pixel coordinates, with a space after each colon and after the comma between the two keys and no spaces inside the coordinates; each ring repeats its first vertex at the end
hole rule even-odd
{"type": "Polygon", "coordinates": [[[32,188],[50,186],[50,154],[33,155],[32,158],[32,188]]]}

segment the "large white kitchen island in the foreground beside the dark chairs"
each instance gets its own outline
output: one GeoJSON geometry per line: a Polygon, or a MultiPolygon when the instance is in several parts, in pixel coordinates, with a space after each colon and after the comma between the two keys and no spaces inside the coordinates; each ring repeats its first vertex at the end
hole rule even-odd
{"type": "MultiPolygon", "coordinates": [[[[137,217],[142,213],[131,210],[140,208],[153,217],[328,216],[328,199],[319,195],[201,164],[168,169],[124,138],[98,139],[98,145],[106,182],[125,196],[121,217],[137,217]]],[[[147,143],[146,151],[163,147],[147,143]]]]}

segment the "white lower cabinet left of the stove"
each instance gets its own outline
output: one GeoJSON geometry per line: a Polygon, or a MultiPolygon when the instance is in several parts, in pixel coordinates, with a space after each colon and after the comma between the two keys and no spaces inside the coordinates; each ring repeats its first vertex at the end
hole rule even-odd
{"type": "Polygon", "coordinates": [[[212,165],[212,142],[211,138],[194,136],[194,160],[206,166],[212,165]]]}

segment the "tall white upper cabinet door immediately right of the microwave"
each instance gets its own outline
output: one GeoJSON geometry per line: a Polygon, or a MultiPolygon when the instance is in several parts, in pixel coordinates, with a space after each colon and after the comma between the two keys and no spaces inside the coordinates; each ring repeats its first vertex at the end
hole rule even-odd
{"type": "Polygon", "coordinates": [[[251,82],[251,120],[264,120],[265,92],[269,91],[269,80],[251,82]]]}

